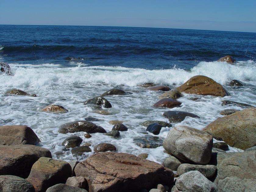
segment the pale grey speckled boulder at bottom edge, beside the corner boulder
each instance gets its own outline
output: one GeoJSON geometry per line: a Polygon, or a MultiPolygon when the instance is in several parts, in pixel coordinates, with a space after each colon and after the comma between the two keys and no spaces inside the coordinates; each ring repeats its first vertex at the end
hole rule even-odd
{"type": "Polygon", "coordinates": [[[199,171],[189,171],[179,176],[176,180],[176,187],[183,192],[217,192],[217,186],[208,180],[199,171]]]}

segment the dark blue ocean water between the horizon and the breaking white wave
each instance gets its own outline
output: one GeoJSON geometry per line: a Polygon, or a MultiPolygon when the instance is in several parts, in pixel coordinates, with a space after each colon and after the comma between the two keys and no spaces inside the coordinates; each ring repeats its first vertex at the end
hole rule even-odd
{"type": "Polygon", "coordinates": [[[0,57],[7,63],[152,70],[190,69],[226,55],[239,61],[256,59],[256,33],[33,25],[0,25],[0,31],[0,57]]]}

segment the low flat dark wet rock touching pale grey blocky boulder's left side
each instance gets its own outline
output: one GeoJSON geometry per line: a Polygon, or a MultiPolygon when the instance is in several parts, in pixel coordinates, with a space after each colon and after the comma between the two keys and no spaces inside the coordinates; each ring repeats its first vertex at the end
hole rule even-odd
{"type": "Polygon", "coordinates": [[[147,135],[144,137],[137,137],[133,139],[134,144],[138,145],[141,148],[157,148],[163,146],[163,137],[156,137],[147,135]]]}

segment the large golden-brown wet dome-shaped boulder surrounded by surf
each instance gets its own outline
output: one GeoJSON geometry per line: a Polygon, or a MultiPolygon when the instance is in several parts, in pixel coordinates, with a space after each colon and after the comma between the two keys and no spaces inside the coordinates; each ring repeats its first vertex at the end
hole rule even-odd
{"type": "Polygon", "coordinates": [[[183,85],[177,87],[176,90],[188,94],[212,95],[217,97],[230,95],[221,84],[202,75],[191,77],[183,85]]]}

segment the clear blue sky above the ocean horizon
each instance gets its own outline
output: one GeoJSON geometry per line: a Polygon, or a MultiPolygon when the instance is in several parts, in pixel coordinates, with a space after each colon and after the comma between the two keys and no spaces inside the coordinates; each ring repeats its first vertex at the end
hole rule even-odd
{"type": "Polygon", "coordinates": [[[0,0],[0,24],[256,32],[256,0],[0,0]]]}

